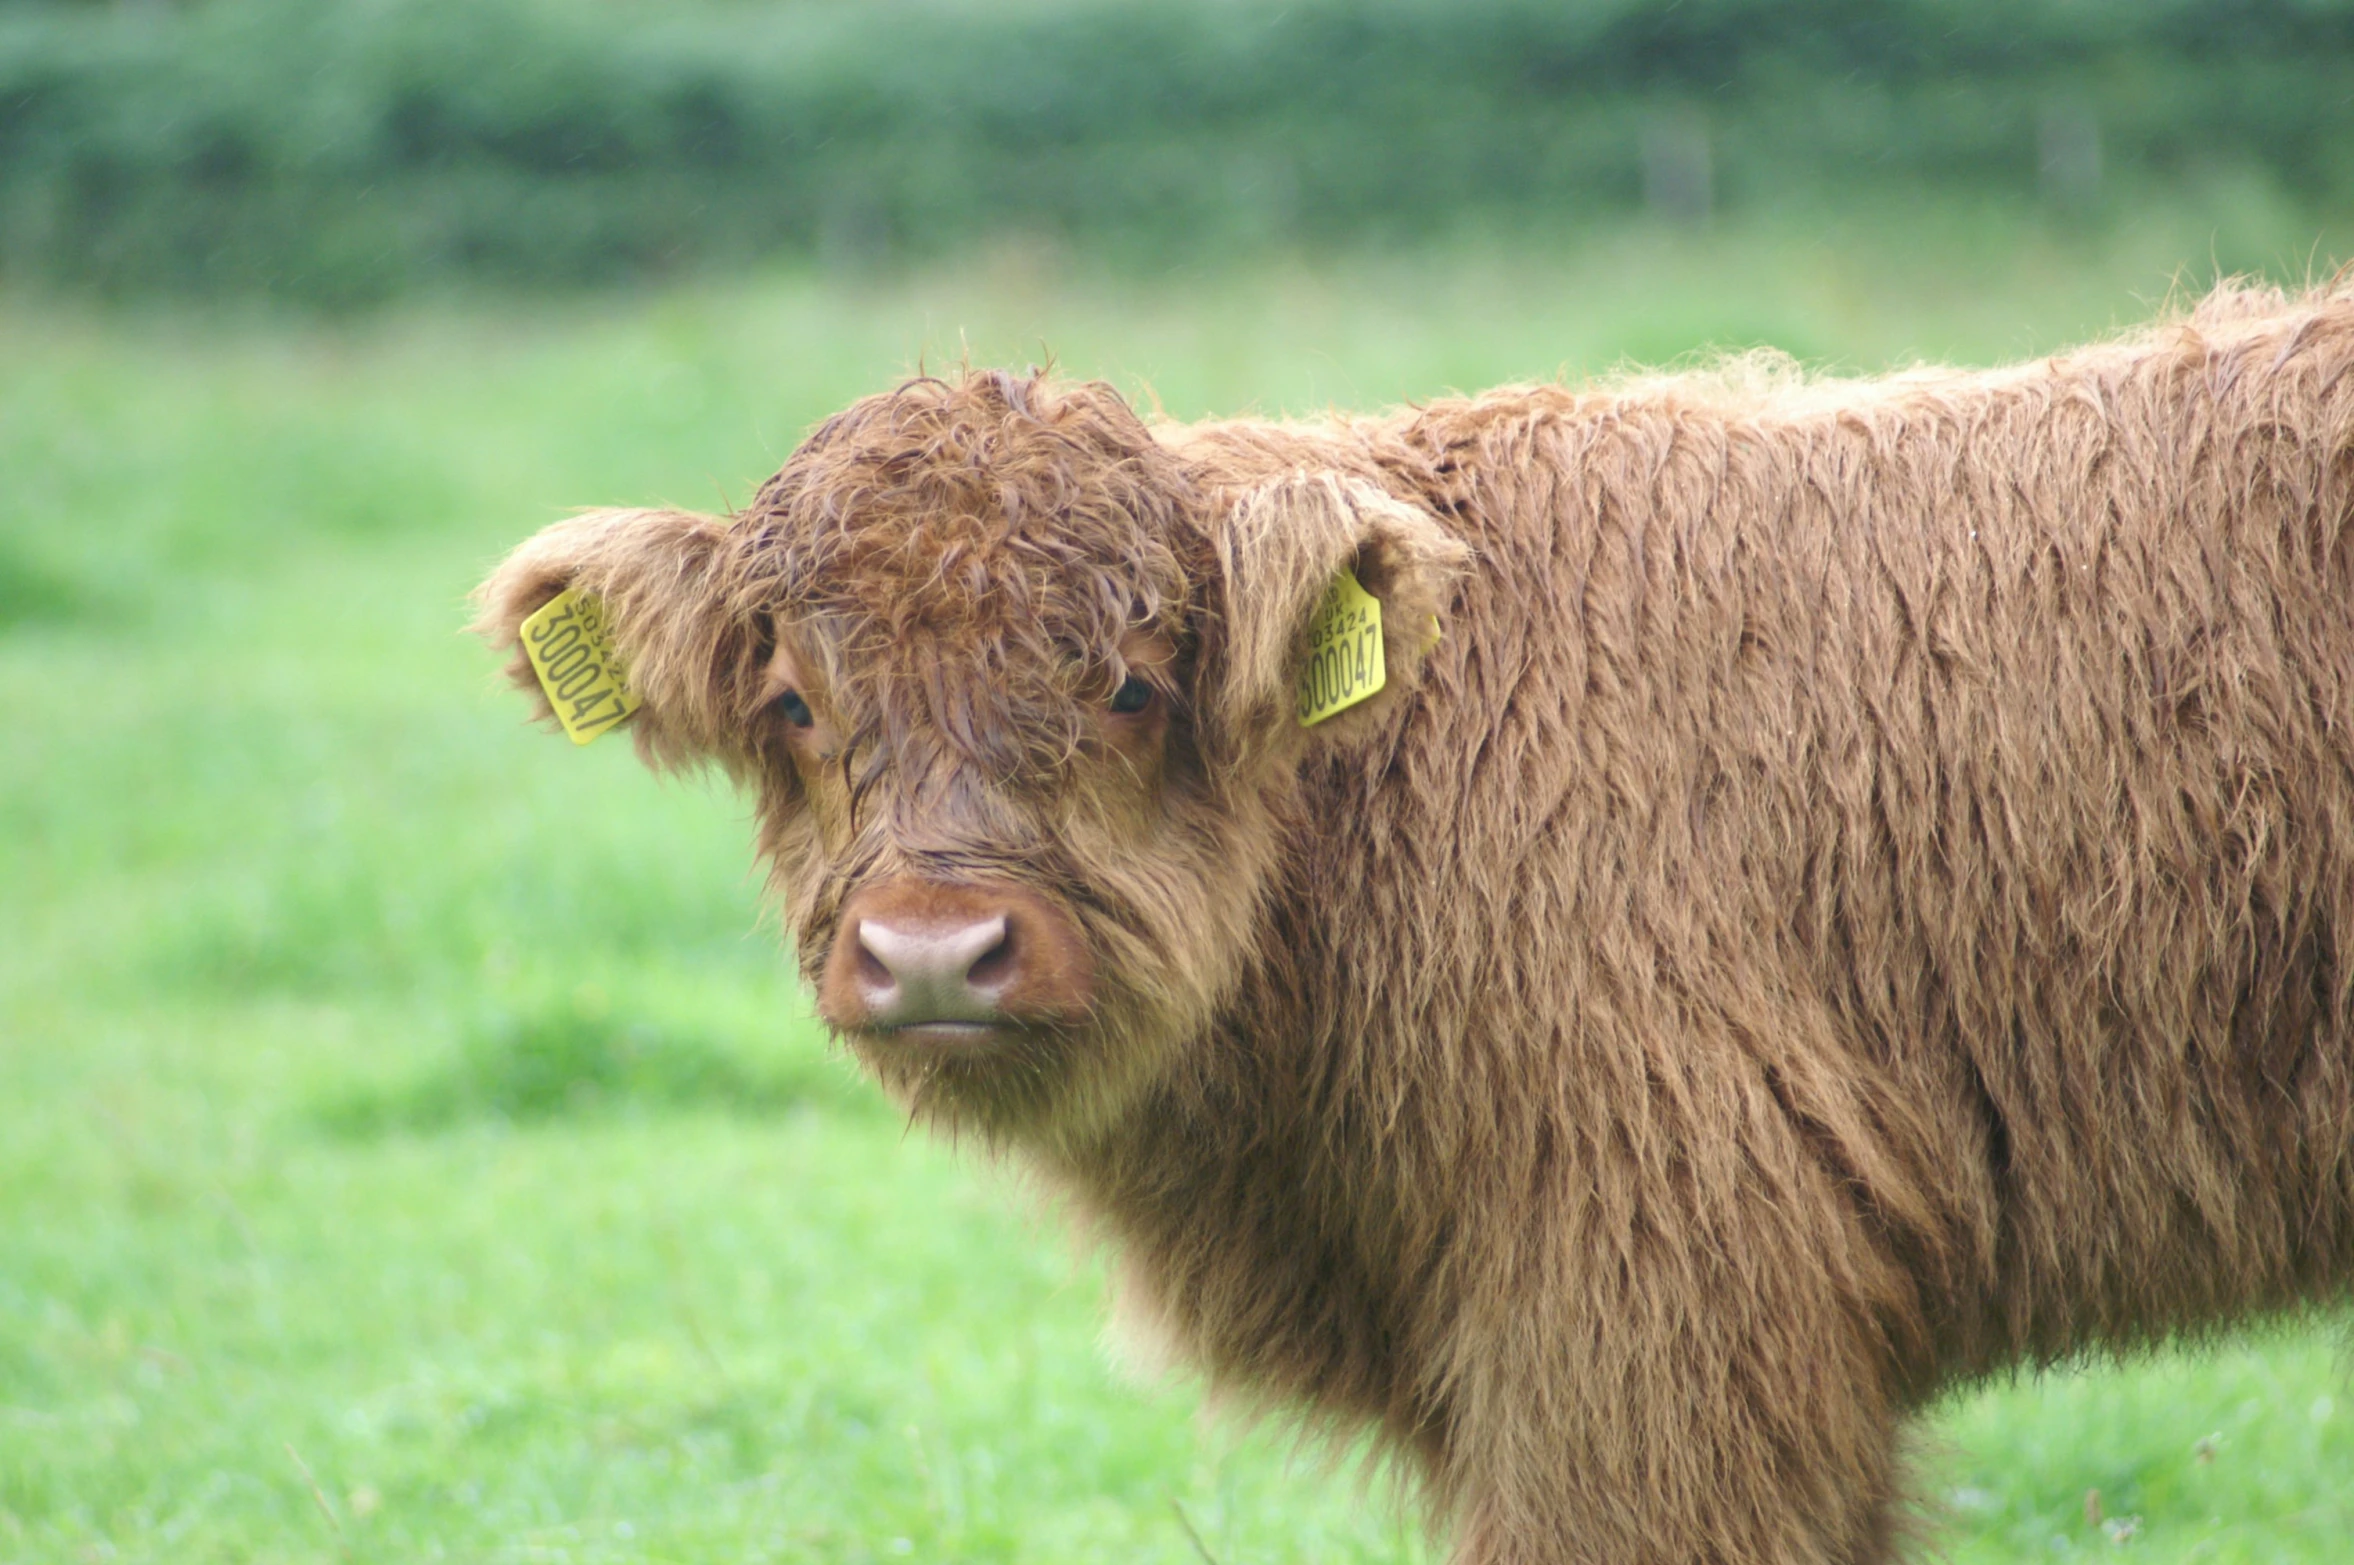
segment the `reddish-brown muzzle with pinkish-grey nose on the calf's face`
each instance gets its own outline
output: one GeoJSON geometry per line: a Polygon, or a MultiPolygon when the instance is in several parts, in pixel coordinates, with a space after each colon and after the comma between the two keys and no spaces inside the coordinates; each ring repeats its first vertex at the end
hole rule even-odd
{"type": "Polygon", "coordinates": [[[1036,892],[899,875],[843,904],[817,1010],[840,1031],[972,1043],[1076,1021],[1092,988],[1078,927],[1036,892]]]}

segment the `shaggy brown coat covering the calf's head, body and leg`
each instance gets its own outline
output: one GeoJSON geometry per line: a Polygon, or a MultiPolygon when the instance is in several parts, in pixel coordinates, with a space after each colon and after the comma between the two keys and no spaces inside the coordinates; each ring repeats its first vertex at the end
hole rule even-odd
{"type": "Polygon", "coordinates": [[[551,527],[483,631],[607,598],[812,981],[869,885],[1059,908],[1078,1021],[850,1047],[1459,1560],[1883,1560],[1942,1386],[2354,1278],[2349,522],[2354,289],[2222,289],[1302,426],[913,381],[732,520],[551,527]],[[1391,682],[1299,730],[1342,565],[1391,682]]]}

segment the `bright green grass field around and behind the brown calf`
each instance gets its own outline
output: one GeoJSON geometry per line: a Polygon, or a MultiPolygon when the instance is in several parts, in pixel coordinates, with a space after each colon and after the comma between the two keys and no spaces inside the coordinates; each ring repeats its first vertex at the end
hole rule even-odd
{"type": "MultiPolygon", "coordinates": [[[[1182,417],[1707,344],[1996,360],[2316,254],[2225,233],[1005,249],[341,325],[0,299],[0,1560],[1431,1558],[1121,1381],[1097,1261],[826,1052],[742,805],[523,727],[466,588],[570,506],[744,499],[918,358],[1043,344],[1182,417]]],[[[1951,1558],[2354,1556],[2340,1339],[1956,1398],[1951,1558]]]]}

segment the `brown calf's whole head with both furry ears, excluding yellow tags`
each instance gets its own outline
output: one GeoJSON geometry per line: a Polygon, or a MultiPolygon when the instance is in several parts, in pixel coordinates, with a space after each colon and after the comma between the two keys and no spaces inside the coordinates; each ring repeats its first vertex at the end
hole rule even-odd
{"type": "Polygon", "coordinates": [[[605,598],[640,748],[758,793],[826,1024],[920,1116],[1085,1137],[1231,991],[1290,784],[1394,713],[1459,558],[1363,480],[1231,482],[1104,386],[972,374],[831,419],[739,518],[546,530],[483,626],[605,598]],[[1302,732],[1344,567],[1389,687],[1302,732]]]}

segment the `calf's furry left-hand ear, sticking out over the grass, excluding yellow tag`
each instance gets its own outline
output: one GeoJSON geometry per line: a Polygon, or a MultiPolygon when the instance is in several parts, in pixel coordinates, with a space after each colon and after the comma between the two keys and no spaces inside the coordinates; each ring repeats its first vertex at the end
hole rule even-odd
{"type": "Polygon", "coordinates": [[[473,631],[508,652],[506,678],[553,720],[523,652],[523,621],[563,591],[593,598],[640,706],[647,765],[732,760],[760,635],[732,602],[727,522],[687,511],[586,511],[544,527],[476,588],[473,631]]]}

